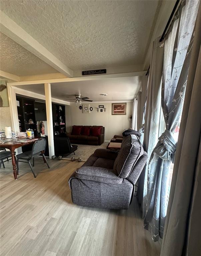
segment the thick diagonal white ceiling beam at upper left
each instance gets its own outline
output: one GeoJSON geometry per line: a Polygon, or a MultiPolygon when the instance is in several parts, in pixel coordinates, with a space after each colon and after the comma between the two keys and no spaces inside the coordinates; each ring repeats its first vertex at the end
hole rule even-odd
{"type": "Polygon", "coordinates": [[[67,77],[73,71],[0,10],[0,31],[67,77]]]}

